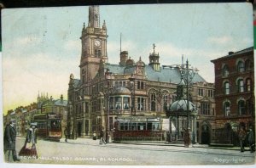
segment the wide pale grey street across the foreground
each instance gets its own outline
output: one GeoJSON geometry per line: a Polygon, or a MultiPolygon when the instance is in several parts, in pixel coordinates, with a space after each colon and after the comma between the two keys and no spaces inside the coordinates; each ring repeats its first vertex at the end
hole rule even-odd
{"type": "MultiPolygon", "coordinates": [[[[24,137],[17,137],[20,151],[24,137]]],[[[63,165],[245,165],[254,163],[249,151],[176,146],[99,144],[99,140],[79,138],[63,142],[38,139],[38,159],[20,157],[20,163],[63,165]]]]}

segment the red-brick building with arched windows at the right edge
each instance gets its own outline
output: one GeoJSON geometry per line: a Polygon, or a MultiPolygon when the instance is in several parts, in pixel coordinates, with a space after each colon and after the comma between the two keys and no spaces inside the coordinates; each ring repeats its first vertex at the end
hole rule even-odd
{"type": "Polygon", "coordinates": [[[238,144],[240,127],[255,126],[253,48],[212,60],[215,70],[216,143],[238,144]]]}

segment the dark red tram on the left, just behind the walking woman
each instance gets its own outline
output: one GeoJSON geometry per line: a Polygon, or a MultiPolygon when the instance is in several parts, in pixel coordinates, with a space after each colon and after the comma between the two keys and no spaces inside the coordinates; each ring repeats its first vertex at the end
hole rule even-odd
{"type": "Polygon", "coordinates": [[[61,132],[61,115],[52,113],[34,115],[33,122],[38,123],[38,137],[46,140],[60,141],[61,132]]]}

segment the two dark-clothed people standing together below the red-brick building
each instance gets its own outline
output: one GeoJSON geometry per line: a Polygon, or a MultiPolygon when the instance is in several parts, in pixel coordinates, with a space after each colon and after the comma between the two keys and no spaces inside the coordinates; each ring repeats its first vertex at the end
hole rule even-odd
{"type": "Polygon", "coordinates": [[[244,127],[241,127],[238,136],[240,140],[241,152],[245,151],[244,147],[247,143],[249,145],[250,152],[253,153],[255,151],[255,137],[252,127],[250,127],[249,132],[246,132],[244,127]]]}

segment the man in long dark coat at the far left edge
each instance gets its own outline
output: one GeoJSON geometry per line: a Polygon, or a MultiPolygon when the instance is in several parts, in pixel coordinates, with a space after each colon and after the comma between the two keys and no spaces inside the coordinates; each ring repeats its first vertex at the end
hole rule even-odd
{"type": "Polygon", "coordinates": [[[16,127],[15,120],[10,120],[9,125],[4,130],[4,155],[7,156],[8,161],[11,160],[10,154],[14,161],[20,161],[16,153],[16,127]]]}

